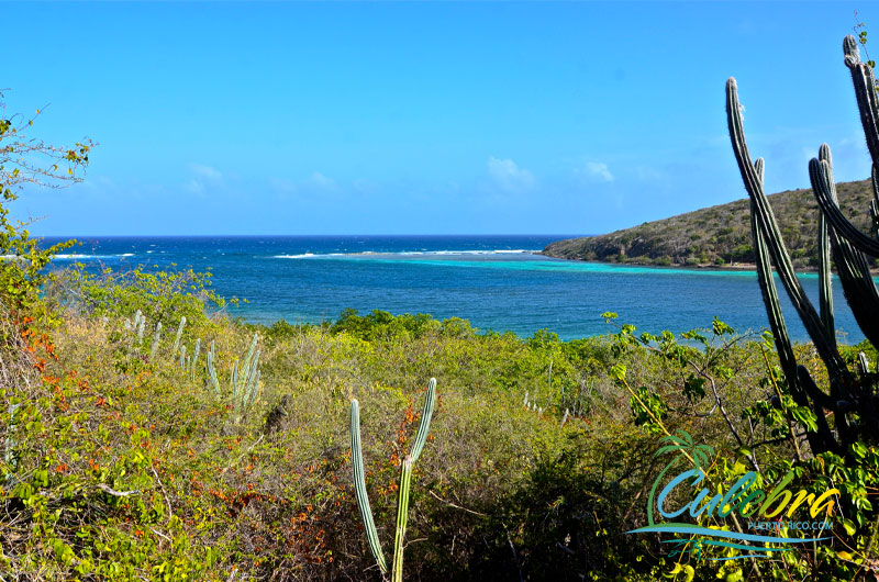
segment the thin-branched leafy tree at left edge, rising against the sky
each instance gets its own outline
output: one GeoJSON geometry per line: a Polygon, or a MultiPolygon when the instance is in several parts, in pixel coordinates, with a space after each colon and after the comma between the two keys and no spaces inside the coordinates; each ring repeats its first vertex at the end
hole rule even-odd
{"type": "Polygon", "coordinates": [[[41,249],[27,231],[30,222],[12,220],[9,206],[25,186],[64,188],[81,181],[94,144],[85,138],[73,147],[58,147],[32,137],[41,110],[33,116],[5,117],[5,107],[0,91],[0,304],[24,316],[38,302],[45,267],[74,242],[41,249]]]}

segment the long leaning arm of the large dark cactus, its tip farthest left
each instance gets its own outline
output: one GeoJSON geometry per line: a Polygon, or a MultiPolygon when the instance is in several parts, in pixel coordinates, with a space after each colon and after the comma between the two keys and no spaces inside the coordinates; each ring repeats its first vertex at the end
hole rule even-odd
{"type": "Polygon", "coordinates": [[[803,326],[809,333],[809,336],[815,344],[815,348],[821,355],[822,360],[824,360],[827,366],[831,377],[847,378],[848,370],[845,360],[843,360],[836,349],[835,338],[827,336],[821,317],[815,312],[815,307],[812,305],[811,301],[809,301],[802,284],[800,284],[800,280],[797,278],[797,273],[793,271],[793,266],[790,261],[790,256],[788,255],[778,224],[776,223],[775,214],[763,191],[763,183],[758,179],[756,169],[752,166],[750,154],[748,153],[742,123],[742,111],[738,102],[736,82],[732,77],[726,81],[726,119],[730,127],[733,152],[738,163],[742,179],[745,182],[745,189],[754,202],[754,209],[757,211],[758,225],[760,231],[763,231],[769,255],[785,286],[785,290],[788,292],[788,296],[795,307],[800,320],[803,322],[803,326]]]}

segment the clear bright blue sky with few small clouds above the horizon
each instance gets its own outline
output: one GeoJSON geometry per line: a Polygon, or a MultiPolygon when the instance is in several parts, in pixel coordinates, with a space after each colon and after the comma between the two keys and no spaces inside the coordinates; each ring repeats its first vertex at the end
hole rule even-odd
{"type": "MultiPolygon", "coordinates": [[[[3,3],[5,115],[99,143],[37,235],[598,234],[869,158],[842,41],[869,2],[3,3]],[[48,105],[48,107],[44,107],[48,105]]],[[[879,59],[879,58],[877,58],[879,59]]]]}

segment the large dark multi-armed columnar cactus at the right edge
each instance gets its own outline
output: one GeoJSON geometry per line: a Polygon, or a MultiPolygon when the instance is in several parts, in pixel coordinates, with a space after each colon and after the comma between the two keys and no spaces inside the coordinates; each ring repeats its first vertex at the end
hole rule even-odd
{"type": "Polygon", "coordinates": [[[833,296],[831,292],[831,258],[836,265],[846,301],[864,335],[879,345],[879,292],[872,281],[867,256],[879,256],[879,99],[872,69],[860,63],[857,41],[846,36],[843,51],[850,69],[858,109],[872,158],[874,200],[870,212],[874,232],[858,231],[842,213],[833,181],[830,147],[823,144],[819,156],[809,163],[812,191],[819,203],[819,289],[820,312],[797,279],[785,240],[776,224],[772,209],[764,193],[764,161],[752,164],[743,131],[741,105],[735,79],[726,83],[726,115],[730,136],[745,189],[750,198],[752,236],[755,262],[769,325],[775,338],[781,369],[790,393],[799,406],[808,406],[816,416],[816,429],[806,433],[813,454],[833,451],[845,455],[848,446],[859,439],[879,443],[879,399],[876,377],[868,373],[869,362],[860,359],[861,373],[855,377],[839,355],[834,331],[833,296]],[[817,388],[809,371],[797,363],[788,336],[785,317],[772,278],[772,266],[781,280],[797,314],[812,338],[815,349],[827,368],[830,393],[817,388]],[[835,432],[824,411],[834,413],[835,432]]]}

